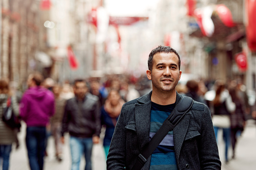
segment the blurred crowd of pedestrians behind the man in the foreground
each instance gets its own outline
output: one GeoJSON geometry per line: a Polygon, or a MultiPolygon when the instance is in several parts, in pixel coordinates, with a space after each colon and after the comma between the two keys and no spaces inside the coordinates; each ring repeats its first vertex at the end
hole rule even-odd
{"type": "MultiPolygon", "coordinates": [[[[91,150],[102,143],[106,159],[115,125],[122,105],[151,91],[146,76],[106,75],[58,83],[43,78],[40,73],[28,76],[27,86],[0,79],[0,116],[12,108],[17,122],[26,123],[27,156],[31,169],[43,169],[47,156],[47,138],[55,141],[56,160],[63,160],[64,134],[69,132],[71,169],[79,169],[81,155],[85,155],[85,169],[91,169],[91,150]],[[104,133],[104,135],[100,135],[104,133]]],[[[201,102],[211,110],[216,139],[223,131],[225,161],[235,158],[237,138],[242,135],[248,118],[256,118],[256,105],[250,106],[246,87],[241,80],[188,80],[176,87],[179,94],[201,102]],[[232,155],[228,155],[228,149],[232,155]]],[[[3,170],[9,167],[12,146],[19,147],[17,133],[20,126],[8,126],[0,119],[0,162],[3,170]]],[[[218,141],[218,140],[217,140],[218,141]]]]}

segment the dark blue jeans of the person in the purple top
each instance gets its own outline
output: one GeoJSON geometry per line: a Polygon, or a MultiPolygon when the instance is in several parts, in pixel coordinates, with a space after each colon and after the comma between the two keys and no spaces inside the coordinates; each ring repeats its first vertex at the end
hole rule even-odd
{"type": "Polygon", "coordinates": [[[43,169],[45,139],[45,127],[27,127],[26,145],[31,170],[43,169]]]}

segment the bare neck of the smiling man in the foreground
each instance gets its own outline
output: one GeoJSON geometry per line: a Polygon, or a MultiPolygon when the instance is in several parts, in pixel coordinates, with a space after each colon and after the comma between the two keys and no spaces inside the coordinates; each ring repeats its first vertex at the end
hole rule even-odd
{"type": "Polygon", "coordinates": [[[156,93],[152,91],[151,102],[159,105],[170,105],[176,102],[176,91],[156,93]]]}

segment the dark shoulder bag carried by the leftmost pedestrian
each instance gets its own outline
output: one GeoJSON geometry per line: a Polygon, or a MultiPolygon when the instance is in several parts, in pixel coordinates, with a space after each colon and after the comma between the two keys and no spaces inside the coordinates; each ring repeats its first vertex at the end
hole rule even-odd
{"type": "Polygon", "coordinates": [[[11,98],[7,99],[7,106],[3,109],[2,120],[11,129],[15,129],[15,128],[20,129],[20,127],[21,127],[20,119],[17,116],[15,116],[15,114],[13,112],[11,98]]]}

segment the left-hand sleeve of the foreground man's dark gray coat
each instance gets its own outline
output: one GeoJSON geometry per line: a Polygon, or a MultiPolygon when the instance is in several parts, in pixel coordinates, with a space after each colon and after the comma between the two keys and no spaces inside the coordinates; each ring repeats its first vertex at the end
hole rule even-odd
{"type": "Polygon", "coordinates": [[[107,169],[125,169],[126,130],[125,116],[123,112],[124,109],[122,108],[110,144],[107,169]]]}

